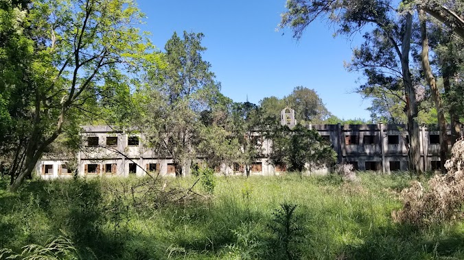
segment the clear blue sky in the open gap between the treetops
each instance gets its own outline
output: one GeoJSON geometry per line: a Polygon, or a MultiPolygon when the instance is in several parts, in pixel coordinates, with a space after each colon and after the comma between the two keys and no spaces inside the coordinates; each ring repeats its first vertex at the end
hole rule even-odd
{"type": "Polygon", "coordinates": [[[362,83],[343,61],[360,37],[334,38],[334,28],[316,21],[297,41],[292,31],[276,31],[285,0],[138,0],[147,16],[146,31],[159,49],[174,31],[202,32],[203,60],[233,101],[259,103],[282,98],[296,86],[316,90],[327,109],[339,118],[369,119],[369,100],[352,93],[362,83]],[[283,34],[283,35],[282,35],[283,34]],[[357,83],[358,82],[358,83],[357,83]]]}

